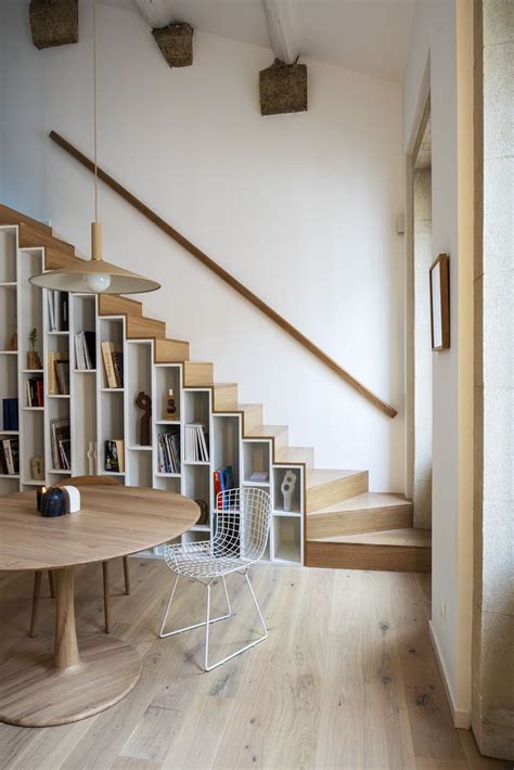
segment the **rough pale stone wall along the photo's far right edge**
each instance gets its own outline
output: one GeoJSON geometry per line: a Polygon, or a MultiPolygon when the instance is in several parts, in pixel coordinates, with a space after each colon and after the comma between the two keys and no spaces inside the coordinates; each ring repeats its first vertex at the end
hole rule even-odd
{"type": "Polygon", "coordinates": [[[514,3],[476,14],[473,731],[514,759],[514,3]],[[481,27],[483,23],[483,27],[481,27]],[[483,47],[483,48],[481,48],[483,47]],[[480,55],[483,51],[483,56],[480,55]],[[481,102],[481,88],[484,100],[481,102]],[[481,218],[483,215],[483,218],[481,218]]]}

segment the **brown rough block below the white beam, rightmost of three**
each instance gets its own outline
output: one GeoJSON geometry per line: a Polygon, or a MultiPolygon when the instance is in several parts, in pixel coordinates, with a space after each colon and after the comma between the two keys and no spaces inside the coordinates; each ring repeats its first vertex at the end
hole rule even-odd
{"type": "Polygon", "coordinates": [[[307,66],[275,59],[259,73],[260,114],[280,115],[307,110],[307,66]]]}

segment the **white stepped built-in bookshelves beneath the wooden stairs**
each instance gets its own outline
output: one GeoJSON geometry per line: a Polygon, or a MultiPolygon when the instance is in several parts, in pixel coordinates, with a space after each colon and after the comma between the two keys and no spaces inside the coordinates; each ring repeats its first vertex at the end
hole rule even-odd
{"type": "MultiPolygon", "coordinates": [[[[230,465],[234,486],[260,487],[271,496],[273,517],[265,559],[280,564],[303,563],[304,466],[273,464],[271,437],[244,438],[239,411],[214,411],[211,387],[184,387],[183,364],[155,363],[154,341],[128,338],[125,316],[99,315],[95,295],[72,294],[69,330],[50,329],[47,292],[28,282],[30,275],[41,272],[42,260],[42,248],[17,248],[17,227],[0,227],[0,400],[17,397],[20,406],[18,431],[2,429],[0,424],[0,440],[12,437],[20,441],[20,474],[0,474],[0,493],[34,489],[72,475],[112,475],[123,484],[180,492],[201,501],[203,518],[182,536],[184,542],[196,542],[208,539],[216,526],[214,473],[230,465]],[[41,360],[38,370],[27,369],[28,335],[34,328],[41,360]],[[10,350],[15,331],[18,349],[10,350]],[[80,332],[95,335],[95,361],[90,369],[81,368],[76,352],[75,339],[80,332]],[[106,377],[102,343],[112,343],[123,354],[123,387],[113,387],[106,377]],[[69,393],[49,393],[52,352],[69,360],[69,393]],[[43,378],[42,407],[26,403],[26,381],[36,375],[43,378]],[[167,419],[170,388],[176,406],[172,420],[167,419]],[[152,399],[147,445],[141,445],[142,411],[136,405],[141,392],[152,399]],[[54,466],[52,420],[69,420],[69,470],[54,466]],[[185,426],[192,424],[203,426],[208,460],[193,460],[184,451],[185,426]],[[166,472],[159,465],[160,434],[175,436],[179,454],[176,472],[166,472]],[[106,470],[106,441],[118,442],[123,455],[119,471],[106,470]],[[43,479],[31,476],[34,458],[42,458],[43,479]],[[284,511],[281,493],[286,470],[297,482],[291,511],[284,511]]],[[[154,554],[160,552],[155,549],[154,554]]]]}

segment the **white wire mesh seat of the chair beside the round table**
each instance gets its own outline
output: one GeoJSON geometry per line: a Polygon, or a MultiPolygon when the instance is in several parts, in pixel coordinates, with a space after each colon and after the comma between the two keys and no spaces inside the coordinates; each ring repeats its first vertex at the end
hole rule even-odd
{"type": "Polygon", "coordinates": [[[168,567],[177,575],[196,578],[214,578],[244,569],[255,562],[240,554],[223,553],[216,540],[166,546],[164,557],[168,567]]]}

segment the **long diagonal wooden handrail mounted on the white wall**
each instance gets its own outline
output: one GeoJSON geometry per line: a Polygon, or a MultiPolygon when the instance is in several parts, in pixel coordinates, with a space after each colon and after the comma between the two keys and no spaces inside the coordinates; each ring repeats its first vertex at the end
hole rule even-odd
{"type": "MultiPolygon", "coordinates": [[[[70,144],[66,139],[61,137],[56,131],[50,131],[50,139],[59,144],[65,152],[72,155],[76,161],[82,164],[90,171],[94,172],[94,164],[90,158],[83,155],[80,150],[77,150],[73,144],[70,144]]],[[[232,286],[239,294],[241,294],[245,299],[247,299],[252,305],[258,308],[265,313],[271,321],[274,321],[284,332],[286,332],[293,339],[303,345],[309,352],[311,352],[316,358],[329,367],[335,374],[337,374],[340,380],[350,385],[355,390],[360,393],[370,403],[387,414],[389,418],[394,418],[398,414],[396,409],[390,405],[386,403],[378,398],[372,390],[362,385],[358,380],[356,380],[349,372],[347,372],[343,367],[334,361],[330,356],[327,356],[323,350],[321,350],[314,343],[312,343],[305,334],[301,334],[295,326],[293,326],[285,318],[282,318],[273,308],[262,301],[256,294],[249,291],[243,283],[237,281],[230,272],[227,272],[218,262],[210,259],[204,252],[202,252],[194,243],[188,241],[181,233],[179,233],[175,228],[171,227],[167,221],[162,219],[155,211],[141,203],[139,198],[136,197],[126,188],[121,187],[113,177],[106,174],[100,166],[98,167],[98,176],[107,187],[118,193],[127,203],[138,209],[146,219],[156,224],[163,232],[165,232],[169,238],[171,238],[176,243],[180,244],[187,252],[189,252],[195,259],[205,265],[206,268],[211,270],[218,278],[232,286]]]]}

